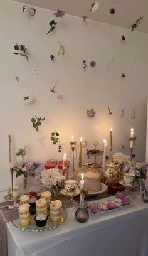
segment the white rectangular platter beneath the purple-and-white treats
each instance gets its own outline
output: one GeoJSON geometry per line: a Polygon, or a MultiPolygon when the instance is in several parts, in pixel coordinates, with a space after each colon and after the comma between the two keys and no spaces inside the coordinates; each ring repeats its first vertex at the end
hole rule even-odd
{"type": "Polygon", "coordinates": [[[119,206],[117,208],[114,208],[114,209],[111,209],[111,210],[101,210],[99,213],[93,213],[92,210],[91,210],[92,206],[95,206],[95,205],[100,206],[100,204],[102,204],[103,202],[108,201],[108,203],[109,203],[110,201],[114,201],[114,200],[115,200],[115,196],[110,196],[109,198],[103,198],[101,200],[96,200],[96,201],[93,201],[91,203],[86,203],[85,206],[87,207],[87,210],[89,211],[90,214],[92,214],[92,215],[102,215],[102,214],[108,213],[110,211],[117,211],[119,209],[123,209],[127,206],[132,205],[132,203],[129,202],[129,205],[121,205],[121,206],[119,206]]]}

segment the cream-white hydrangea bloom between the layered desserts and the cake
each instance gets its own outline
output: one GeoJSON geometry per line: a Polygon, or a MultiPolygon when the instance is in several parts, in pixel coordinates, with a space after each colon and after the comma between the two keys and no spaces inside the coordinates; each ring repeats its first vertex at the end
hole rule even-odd
{"type": "Polygon", "coordinates": [[[41,183],[43,186],[51,188],[65,180],[65,177],[59,173],[56,168],[46,169],[41,171],[41,183]]]}

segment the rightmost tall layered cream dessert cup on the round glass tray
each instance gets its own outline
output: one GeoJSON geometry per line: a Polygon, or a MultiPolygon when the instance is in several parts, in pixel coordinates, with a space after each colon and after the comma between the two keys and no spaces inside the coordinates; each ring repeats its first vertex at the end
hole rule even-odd
{"type": "Polygon", "coordinates": [[[60,200],[51,201],[50,203],[50,218],[53,222],[61,221],[62,203],[60,200]]]}

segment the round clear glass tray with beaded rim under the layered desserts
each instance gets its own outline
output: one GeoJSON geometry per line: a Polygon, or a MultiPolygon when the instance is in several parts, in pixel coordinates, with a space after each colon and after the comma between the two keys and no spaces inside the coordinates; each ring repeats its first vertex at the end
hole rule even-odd
{"type": "Polygon", "coordinates": [[[66,218],[67,218],[67,214],[64,208],[62,208],[61,210],[61,221],[58,222],[53,222],[50,220],[50,216],[48,216],[48,220],[46,221],[46,225],[43,227],[38,227],[36,225],[36,221],[34,220],[34,217],[36,215],[31,215],[31,225],[29,226],[21,226],[19,223],[19,213],[18,213],[18,218],[13,219],[13,216],[11,218],[11,223],[13,223],[14,227],[18,228],[19,230],[23,230],[23,231],[28,231],[28,232],[41,232],[41,231],[48,231],[48,230],[53,230],[54,228],[59,227],[60,225],[62,225],[66,218]]]}

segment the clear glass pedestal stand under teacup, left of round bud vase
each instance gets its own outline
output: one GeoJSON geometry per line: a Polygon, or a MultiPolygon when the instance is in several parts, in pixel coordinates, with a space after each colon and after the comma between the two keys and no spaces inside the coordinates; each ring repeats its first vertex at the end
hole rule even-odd
{"type": "Polygon", "coordinates": [[[65,208],[68,215],[75,215],[75,212],[80,207],[80,204],[73,200],[73,198],[80,194],[80,189],[75,189],[75,192],[73,193],[68,193],[65,189],[61,189],[60,193],[64,196],[68,196],[68,200],[63,202],[63,207],[65,208]]]}

